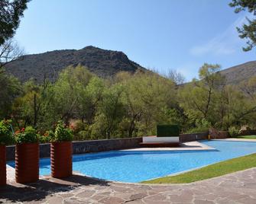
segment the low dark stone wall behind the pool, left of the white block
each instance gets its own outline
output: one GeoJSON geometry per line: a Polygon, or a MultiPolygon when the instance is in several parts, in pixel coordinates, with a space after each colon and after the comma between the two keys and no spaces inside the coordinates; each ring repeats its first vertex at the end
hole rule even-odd
{"type": "MultiPolygon", "coordinates": [[[[88,140],[73,142],[73,154],[84,154],[98,151],[111,151],[125,148],[140,147],[142,138],[128,138],[128,139],[102,139],[102,140],[88,140]]],[[[50,157],[50,144],[40,145],[40,158],[50,157]]],[[[8,146],[6,148],[6,160],[15,160],[15,146],[8,146]]]]}

